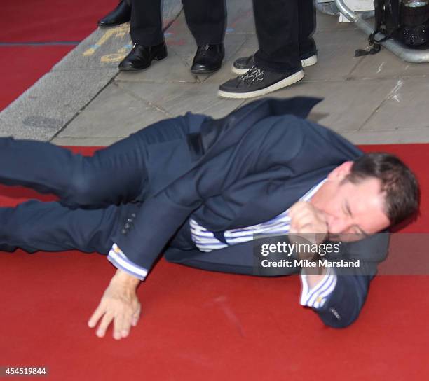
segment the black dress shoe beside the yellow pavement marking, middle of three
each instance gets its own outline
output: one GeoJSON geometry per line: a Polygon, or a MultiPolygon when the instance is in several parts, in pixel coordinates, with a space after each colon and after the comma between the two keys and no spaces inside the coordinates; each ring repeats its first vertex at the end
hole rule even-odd
{"type": "Polygon", "coordinates": [[[118,69],[121,71],[137,71],[151,66],[152,60],[163,60],[167,57],[165,42],[155,46],[142,46],[134,44],[134,48],[121,61],[118,69]]]}

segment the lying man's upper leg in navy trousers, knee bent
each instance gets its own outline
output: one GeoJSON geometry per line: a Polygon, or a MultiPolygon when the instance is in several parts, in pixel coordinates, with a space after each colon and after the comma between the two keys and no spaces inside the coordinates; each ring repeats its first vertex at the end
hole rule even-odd
{"type": "Polygon", "coordinates": [[[184,139],[189,123],[161,120],[92,157],[54,144],[0,138],[0,183],[54,193],[69,207],[105,207],[134,200],[147,181],[147,146],[184,139]]]}

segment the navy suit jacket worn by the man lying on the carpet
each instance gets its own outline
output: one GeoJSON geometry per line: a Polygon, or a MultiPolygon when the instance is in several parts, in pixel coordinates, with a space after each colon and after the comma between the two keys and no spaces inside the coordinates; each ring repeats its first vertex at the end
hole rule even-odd
{"type": "MultiPolygon", "coordinates": [[[[207,118],[182,145],[172,142],[175,160],[168,162],[156,155],[159,147],[149,147],[152,157],[160,158],[163,175],[157,176],[161,167],[154,160],[148,168],[149,193],[144,202],[132,207],[135,228],[114,235],[118,247],[130,261],[147,269],[166,249],[169,261],[254,275],[254,242],[201,253],[189,245],[187,221],[192,216],[212,231],[268,221],[332,169],[362,155],[335,132],[304,119],[320,100],[261,99],[225,118],[207,118]]],[[[337,271],[336,289],[317,311],[325,324],[347,326],[356,319],[387,245],[383,235],[343,245],[343,256],[360,258],[365,264],[348,275],[337,271]]],[[[287,275],[297,270],[257,275],[287,275]]]]}

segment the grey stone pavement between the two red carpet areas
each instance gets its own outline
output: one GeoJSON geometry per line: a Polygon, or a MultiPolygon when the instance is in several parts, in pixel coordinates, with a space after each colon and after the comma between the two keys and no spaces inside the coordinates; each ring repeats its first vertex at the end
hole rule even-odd
{"type": "MultiPolygon", "coordinates": [[[[118,73],[130,50],[129,25],[98,29],[0,113],[0,134],[64,145],[111,144],[151,123],[186,111],[224,116],[243,100],[217,97],[233,78],[231,64],[257,49],[252,4],[229,0],[226,57],[211,76],[191,74],[196,50],[183,13],[166,20],[168,57],[146,71],[118,73]]],[[[429,64],[409,64],[382,49],[354,57],[366,36],[351,23],[317,14],[319,62],[273,97],[324,97],[310,118],[355,144],[429,142],[429,64]]]]}

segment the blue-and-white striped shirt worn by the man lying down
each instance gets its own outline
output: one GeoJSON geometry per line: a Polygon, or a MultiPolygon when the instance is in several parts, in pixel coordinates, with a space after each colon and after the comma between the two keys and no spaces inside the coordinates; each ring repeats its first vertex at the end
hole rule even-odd
{"type": "MultiPolygon", "coordinates": [[[[299,200],[309,201],[313,195],[318,191],[322,184],[326,181],[323,180],[317,185],[313,186],[305,195],[299,200]]],[[[289,233],[290,229],[290,216],[289,209],[285,212],[275,216],[270,221],[258,223],[257,225],[248,226],[247,228],[226,230],[223,233],[224,242],[215,237],[215,233],[207,230],[201,226],[196,220],[190,219],[189,227],[191,229],[191,237],[196,247],[203,252],[210,252],[213,250],[223,249],[233,244],[240,244],[253,240],[254,235],[270,234],[270,235],[284,235],[289,233]]],[[[218,235],[219,237],[219,235],[218,235]]],[[[117,244],[113,244],[109,251],[107,259],[118,269],[121,269],[128,274],[144,280],[148,270],[142,268],[135,263],[132,263],[125,254],[119,249],[117,244]]],[[[327,273],[323,279],[313,287],[308,286],[307,275],[301,274],[301,297],[299,303],[308,307],[318,309],[322,307],[329,295],[334,291],[336,286],[336,274],[332,268],[327,269],[327,273]]]]}

